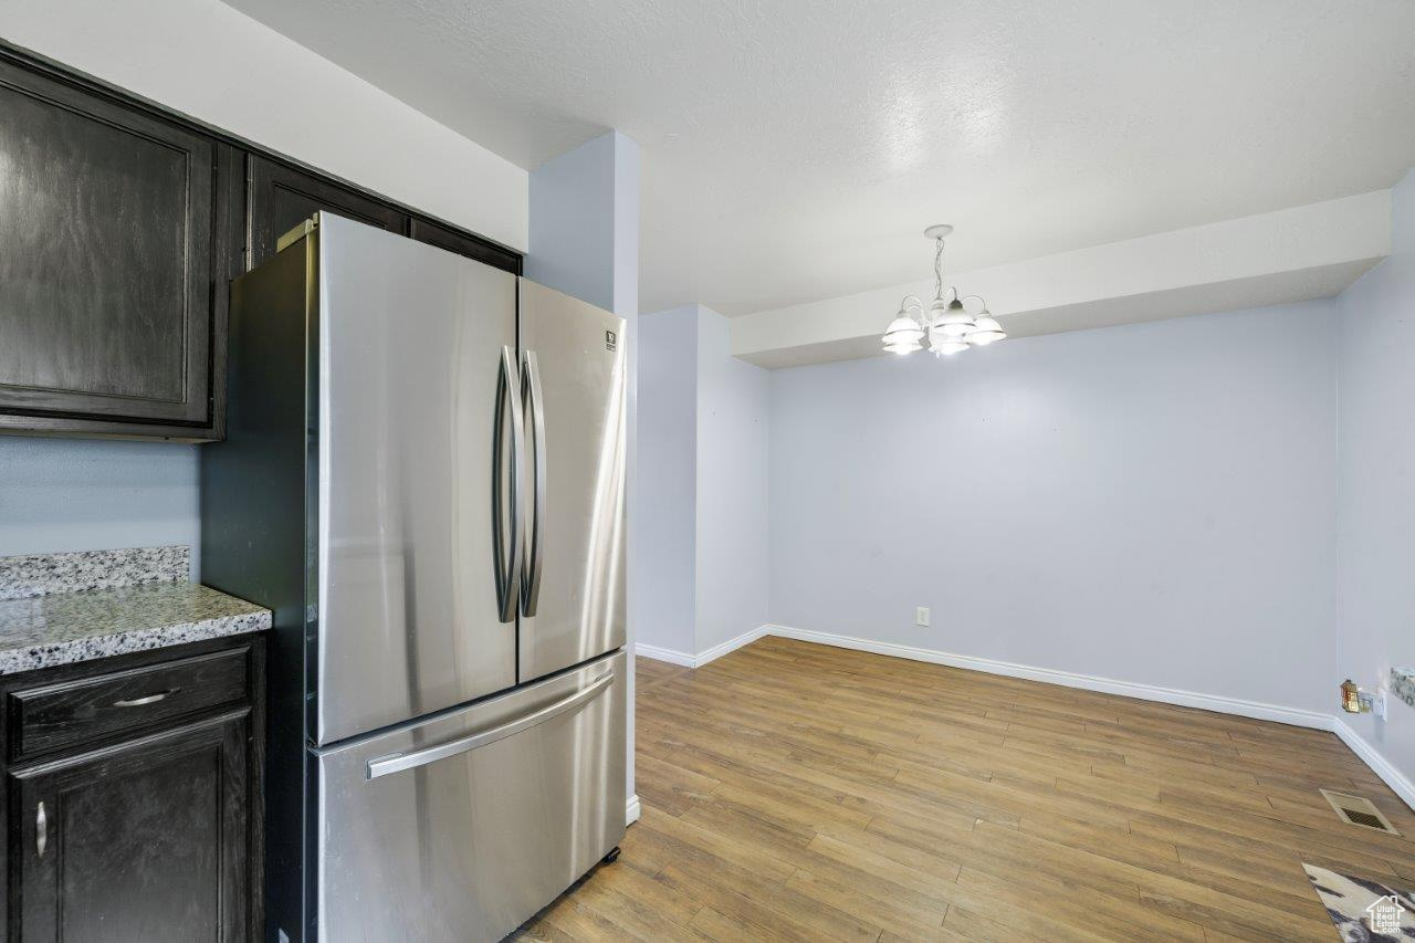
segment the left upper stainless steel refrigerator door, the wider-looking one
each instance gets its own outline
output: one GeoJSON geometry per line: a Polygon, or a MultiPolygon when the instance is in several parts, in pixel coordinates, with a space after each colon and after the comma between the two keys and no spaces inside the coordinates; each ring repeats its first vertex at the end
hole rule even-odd
{"type": "Polygon", "coordinates": [[[328,214],[317,235],[323,745],[515,684],[525,453],[515,276],[328,214]]]}

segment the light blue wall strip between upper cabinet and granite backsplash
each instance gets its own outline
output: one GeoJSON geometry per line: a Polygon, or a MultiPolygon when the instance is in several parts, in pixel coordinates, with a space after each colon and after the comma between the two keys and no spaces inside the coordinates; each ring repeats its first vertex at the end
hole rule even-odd
{"type": "Polygon", "coordinates": [[[198,547],[197,447],[0,436],[0,556],[198,547]]]}

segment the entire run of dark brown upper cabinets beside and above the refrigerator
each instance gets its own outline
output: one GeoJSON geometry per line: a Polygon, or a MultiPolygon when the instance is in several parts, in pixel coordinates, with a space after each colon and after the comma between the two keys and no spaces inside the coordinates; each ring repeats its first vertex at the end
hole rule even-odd
{"type": "Polygon", "coordinates": [[[215,442],[231,279],[317,211],[521,256],[0,40],[0,433],[215,442]]]}

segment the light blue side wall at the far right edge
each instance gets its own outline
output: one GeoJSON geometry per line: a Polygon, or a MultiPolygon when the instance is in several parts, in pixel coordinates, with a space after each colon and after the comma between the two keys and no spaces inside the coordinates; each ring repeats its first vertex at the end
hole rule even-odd
{"type": "MultiPolygon", "coordinates": [[[[1337,634],[1365,688],[1415,664],[1415,173],[1392,212],[1390,258],[1340,297],[1337,634]]],[[[1415,708],[1341,719],[1415,780],[1415,708]]]]}

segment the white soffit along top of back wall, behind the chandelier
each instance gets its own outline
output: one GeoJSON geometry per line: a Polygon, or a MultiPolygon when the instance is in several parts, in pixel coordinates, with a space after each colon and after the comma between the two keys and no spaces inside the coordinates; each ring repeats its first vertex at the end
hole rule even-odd
{"type": "MultiPolygon", "coordinates": [[[[1378,190],[944,278],[1017,338],[1332,297],[1390,251],[1391,193],[1378,190]]],[[[932,290],[928,279],[737,317],[732,353],[770,368],[880,355],[900,297],[932,290]]]]}

